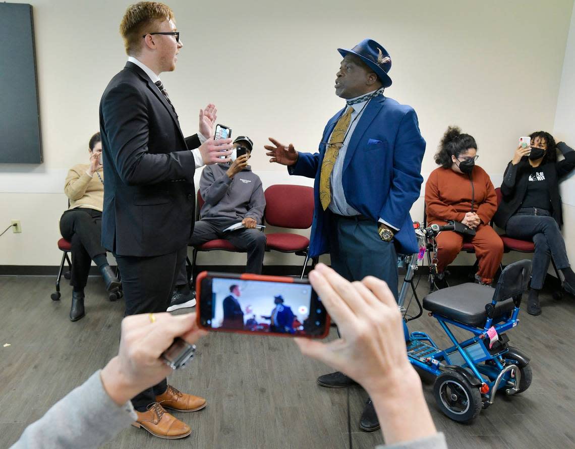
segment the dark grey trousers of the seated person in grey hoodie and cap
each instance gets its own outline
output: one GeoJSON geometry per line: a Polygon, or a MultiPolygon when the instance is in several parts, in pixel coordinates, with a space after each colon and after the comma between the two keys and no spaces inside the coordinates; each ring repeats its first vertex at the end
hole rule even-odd
{"type": "MultiPolygon", "coordinates": [[[[190,245],[196,246],[215,239],[225,239],[238,250],[247,251],[246,273],[262,274],[263,256],[266,252],[266,235],[259,229],[239,229],[232,232],[222,232],[228,226],[237,223],[237,220],[210,220],[196,221],[194,233],[190,238],[190,245]]],[[[123,276],[123,274],[122,274],[123,276]]],[[[176,285],[185,285],[187,282],[186,261],[179,269],[176,285]]]]}

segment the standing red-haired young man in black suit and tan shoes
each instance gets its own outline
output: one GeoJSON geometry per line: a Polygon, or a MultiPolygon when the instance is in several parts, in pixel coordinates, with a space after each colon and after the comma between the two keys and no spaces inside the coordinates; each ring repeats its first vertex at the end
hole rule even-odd
{"type": "MultiPolygon", "coordinates": [[[[120,32],[128,63],[106,87],[99,109],[105,173],[102,243],[120,268],[125,314],[165,312],[193,231],[194,171],[222,162],[218,156],[227,158],[232,145],[229,139],[210,137],[213,105],[200,110],[200,133],[182,134],[159,79],[160,73],[175,70],[183,46],[173,11],[162,3],[131,5],[120,32]]],[[[164,379],[132,404],[136,427],[175,439],[189,435],[190,427],[163,407],[192,412],[206,401],[179,392],[164,379]]]]}

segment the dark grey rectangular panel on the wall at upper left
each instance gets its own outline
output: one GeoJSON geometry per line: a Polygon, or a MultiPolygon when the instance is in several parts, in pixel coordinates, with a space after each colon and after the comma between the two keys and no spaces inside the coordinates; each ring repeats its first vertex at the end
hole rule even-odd
{"type": "Polygon", "coordinates": [[[32,6],[0,3],[0,162],[42,162],[32,6]]]}

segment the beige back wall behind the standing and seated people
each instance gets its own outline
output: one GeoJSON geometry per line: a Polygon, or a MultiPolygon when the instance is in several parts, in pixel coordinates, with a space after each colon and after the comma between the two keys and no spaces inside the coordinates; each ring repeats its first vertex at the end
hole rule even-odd
{"type": "MultiPolygon", "coordinates": [[[[24,229],[1,237],[0,265],[59,260],[55,241],[66,204],[63,178],[85,158],[87,140],[98,129],[99,97],[124,65],[118,23],[127,5],[33,4],[45,162],[0,164],[0,224],[20,219],[24,229]]],[[[162,79],[183,131],[196,132],[198,109],[216,103],[218,122],[254,140],[252,165],[264,186],[300,181],[270,165],[261,147],[269,136],[297,149],[317,147],[325,122],[342,107],[333,94],[336,48],[352,47],[364,37],[385,45],[392,56],[394,83],[386,94],[419,115],[428,142],[424,176],[435,168],[432,155],[449,124],[476,137],[479,163],[494,182],[519,136],[554,129],[572,0],[225,0],[205,6],[173,0],[170,5],[184,47],[177,71],[162,79]]],[[[563,83],[566,78],[563,72],[563,83]]],[[[419,204],[413,217],[421,218],[419,204]]],[[[243,256],[209,254],[202,260],[241,264],[243,256]]],[[[299,259],[266,255],[266,263],[299,259]]]]}

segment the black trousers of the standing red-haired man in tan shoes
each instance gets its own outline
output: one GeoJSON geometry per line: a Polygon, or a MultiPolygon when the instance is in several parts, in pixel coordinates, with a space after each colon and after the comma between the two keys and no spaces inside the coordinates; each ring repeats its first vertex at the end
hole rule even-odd
{"type": "MultiPolygon", "coordinates": [[[[186,261],[186,251],[187,248],[182,248],[154,257],[116,255],[126,301],[124,316],[166,312],[179,267],[186,261]]],[[[134,397],[132,405],[143,412],[149,404],[156,402],[156,396],[166,392],[167,385],[167,379],[163,379],[134,397]]]]}

